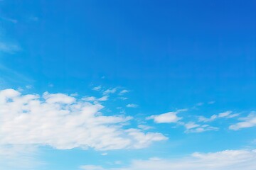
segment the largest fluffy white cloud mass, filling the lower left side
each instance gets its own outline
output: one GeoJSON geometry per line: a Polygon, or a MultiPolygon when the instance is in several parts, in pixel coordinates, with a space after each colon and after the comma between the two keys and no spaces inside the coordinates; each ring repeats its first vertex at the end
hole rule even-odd
{"type": "Polygon", "coordinates": [[[132,117],[105,116],[100,103],[66,94],[0,91],[0,145],[48,145],[97,150],[147,147],[164,135],[125,128],[132,117]]]}

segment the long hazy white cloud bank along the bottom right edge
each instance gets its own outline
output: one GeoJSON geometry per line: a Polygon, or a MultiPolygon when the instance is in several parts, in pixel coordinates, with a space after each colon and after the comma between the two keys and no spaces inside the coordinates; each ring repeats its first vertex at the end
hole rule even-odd
{"type": "Polygon", "coordinates": [[[108,170],[254,170],[255,161],[255,150],[225,150],[206,154],[196,152],[179,159],[134,160],[127,168],[108,170]]]}

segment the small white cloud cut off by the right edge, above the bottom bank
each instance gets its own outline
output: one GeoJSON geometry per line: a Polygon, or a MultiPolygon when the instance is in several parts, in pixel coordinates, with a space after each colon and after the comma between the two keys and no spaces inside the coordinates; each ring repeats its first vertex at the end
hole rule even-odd
{"type": "Polygon", "coordinates": [[[240,118],[241,122],[230,125],[230,130],[240,130],[241,128],[251,128],[256,126],[256,112],[253,111],[247,117],[240,118]]]}

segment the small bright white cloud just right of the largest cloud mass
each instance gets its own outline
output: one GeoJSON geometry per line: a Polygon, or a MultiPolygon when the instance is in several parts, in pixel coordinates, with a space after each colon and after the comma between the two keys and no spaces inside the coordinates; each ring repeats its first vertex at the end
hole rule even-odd
{"type": "Polygon", "coordinates": [[[187,111],[187,110],[181,109],[175,112],[168,112],[161,115],[151,115],[146,119],[147,120],[153,119],[155,123],[177,123],[178,120],[182,119],[181,117],[178,117],[177,114],[182,111],[187,111]]]}

